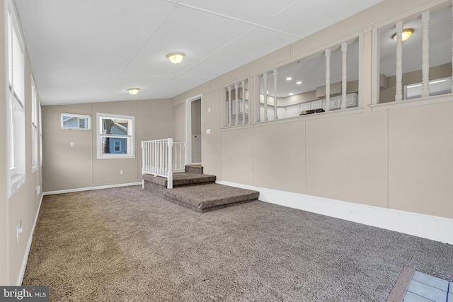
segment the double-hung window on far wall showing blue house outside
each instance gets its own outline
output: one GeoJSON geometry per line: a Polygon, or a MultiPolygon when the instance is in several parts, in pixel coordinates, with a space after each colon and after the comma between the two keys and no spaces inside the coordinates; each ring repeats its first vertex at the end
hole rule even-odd
{"type": "Polygon", "coordinates": [[[134,158],[134,117],[98,113],[98,158],[134,158]]]}

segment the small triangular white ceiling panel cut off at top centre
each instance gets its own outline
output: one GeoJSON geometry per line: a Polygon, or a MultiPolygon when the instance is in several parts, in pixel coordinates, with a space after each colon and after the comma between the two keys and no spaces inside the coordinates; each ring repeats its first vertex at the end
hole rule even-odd
{"type": "Polygon", "coordinates": [[[238,18],[243,21],[260,24],[299,1],[300,0],[269,1],[265,5],[263,5],[263,0],[182,0],[179,1],[179,3],[195,6],[231,18],[238,18]]]}

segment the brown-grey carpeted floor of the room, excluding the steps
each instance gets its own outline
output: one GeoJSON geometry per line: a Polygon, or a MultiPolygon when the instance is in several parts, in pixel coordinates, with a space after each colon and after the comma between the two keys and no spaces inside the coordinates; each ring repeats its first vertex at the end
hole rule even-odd
{"type": "Polygon", "coordinates": [[[51,301],[385,301],[453,246],[265,202],[195,213],[141,187],[45,196],[23,285],[51,301]]]}

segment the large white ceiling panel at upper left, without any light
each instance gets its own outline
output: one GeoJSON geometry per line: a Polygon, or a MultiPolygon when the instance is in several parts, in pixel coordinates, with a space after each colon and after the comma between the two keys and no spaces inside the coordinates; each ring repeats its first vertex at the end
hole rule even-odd
{"type": "Polygon", "coordinates": [[[144,0],[16,2],[33,69],[60,74],[117,74],[174,6],[144,0]]]}

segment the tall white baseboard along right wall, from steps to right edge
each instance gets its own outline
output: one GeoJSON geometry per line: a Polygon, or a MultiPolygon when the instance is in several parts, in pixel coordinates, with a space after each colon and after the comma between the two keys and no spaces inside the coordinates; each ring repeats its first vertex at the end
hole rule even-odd
{"type": "Polygon", "coordinates": [[[409,211],[372,207],[336,199],[315,197],[280,190],[242,185],[235,182],[217,181],[221,185],[241,187],[260,192],[263,202],[280,204],[284,207],[301,209],[339,219],[345,219],[368,226],[453,244],[453,219],[418,214],[409,211]]]}

